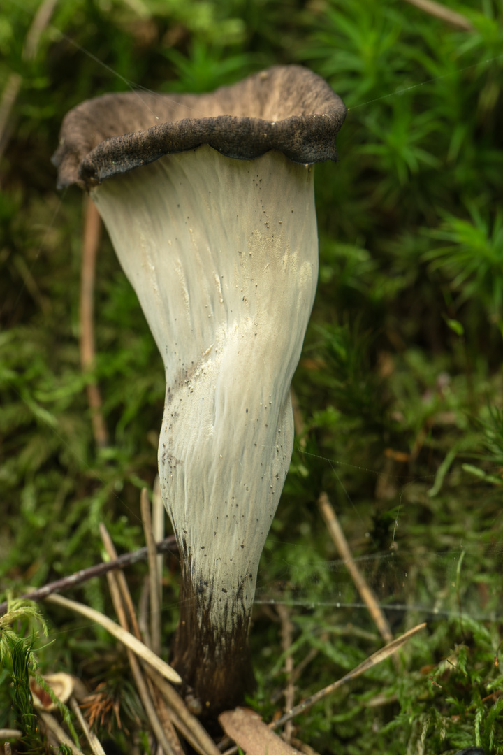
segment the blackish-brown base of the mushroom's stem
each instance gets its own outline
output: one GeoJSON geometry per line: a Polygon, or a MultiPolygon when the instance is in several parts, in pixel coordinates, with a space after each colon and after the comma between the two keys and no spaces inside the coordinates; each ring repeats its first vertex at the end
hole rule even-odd
{"type": "Polygon", "coordinates": [[[182,565],[180,618],[170,663],[182,676],[182,693],[189,693],[192,711],[210,727],[217,726],[222,710],[243,703],[255,686],[248,646],[250,615],[241,603],[243,611],[234,612],[232,634],[218,633],[210,621],[212,599],[209,587],[193,587],[189,569],[182,565]]]}

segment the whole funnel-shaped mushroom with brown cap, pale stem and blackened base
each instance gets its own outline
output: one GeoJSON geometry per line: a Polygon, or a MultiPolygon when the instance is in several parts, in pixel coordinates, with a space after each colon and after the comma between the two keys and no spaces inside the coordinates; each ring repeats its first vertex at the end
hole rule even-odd
{"type": "Polygon", "coordinates": [[[342,100],[300,66],[213,94],[109,94],[63,121],[59,186],[97,205],[164,360],[158,466],[179,546],[172,647],[206,717],[253,685],[260,554],[293,450],[290,382],[317,284],[314,162],[342,100]]]}

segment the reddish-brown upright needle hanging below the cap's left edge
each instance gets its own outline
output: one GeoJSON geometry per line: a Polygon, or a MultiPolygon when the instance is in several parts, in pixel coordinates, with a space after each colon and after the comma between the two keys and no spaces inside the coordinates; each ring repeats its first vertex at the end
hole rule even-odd
{"type": "MultiPolygon", "coordinates": [[[[82,239],[81,260],[81,299],[80,299],[80,353],[81,368],[86,374],[95,366],[94,347],[94,277],[96,257],[100,245],[101,220],[96,205],[87,197],[84,199],[84,238],[82,239]]],[[[105,448],[109,442],[103,411],[101,394],[96,378],[88,377],[86,385],[87,402],[90,408],[94,440],[98,448],[105,448]]]]}

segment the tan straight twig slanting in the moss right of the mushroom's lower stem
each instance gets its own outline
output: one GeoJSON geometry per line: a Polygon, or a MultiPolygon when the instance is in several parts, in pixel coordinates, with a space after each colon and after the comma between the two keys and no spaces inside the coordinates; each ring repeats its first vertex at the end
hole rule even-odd
{"type": "Polygon", "coordinates": [[[388,621],[379,606],[379,602],[377,601],[373,590],[367,584],[367,581],[360,572],[360,569],[358,569],[356,562],[354,562],[353,554],[348,546],[348,541],[345,538],[344,532],[342,532],[342,527],[339,525],[339,520],[337,519],[336,512],[333,510],[332,504],[330,504],[330,501],[328,500],[327,493],[321,493],[317,503],[321,516],[323,516],[328,531],[330,532],[330,536],[339,551],[339,555],[343,559],[345,567],[348,569],[348,572],[360,593],[361,599],[367,606],[367,609],[369,609],[370,615],[372,616],[382,639],[385,639],[387,643],[391,642],[393,634],[391,633],[388,621]]]}

